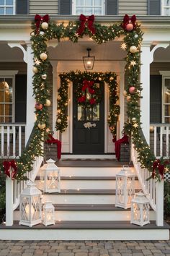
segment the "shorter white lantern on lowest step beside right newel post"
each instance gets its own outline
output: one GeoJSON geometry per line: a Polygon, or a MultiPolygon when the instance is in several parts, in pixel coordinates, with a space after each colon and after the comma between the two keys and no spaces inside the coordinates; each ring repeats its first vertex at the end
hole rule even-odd
{"type": "Polygon", "coordinates": [[[130,223],[143,226],[149,221],[149,201],[146,196],[139,192],[136,194],[136,197],[133,198],[131,202],[131,221],[130,223]]]}

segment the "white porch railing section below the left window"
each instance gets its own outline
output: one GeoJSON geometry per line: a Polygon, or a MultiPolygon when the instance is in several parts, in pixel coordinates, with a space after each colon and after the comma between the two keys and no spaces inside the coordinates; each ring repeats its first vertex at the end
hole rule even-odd
{"type": "Polygon", "coordinates": [[[0,124],[0,158],[18,158],[25,146],[25,124],[0,124]]]}

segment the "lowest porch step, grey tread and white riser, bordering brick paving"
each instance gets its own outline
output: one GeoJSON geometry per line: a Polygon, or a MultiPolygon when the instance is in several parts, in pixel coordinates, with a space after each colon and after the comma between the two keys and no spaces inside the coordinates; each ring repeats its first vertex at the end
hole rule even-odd
{"type": "Polygon", "coordinates": [[[2,240],[169,240],[169,225],[146,226],[129,221],[59,221],[53,226],[37,225],[32,228],[0,225],[2,240]]]}

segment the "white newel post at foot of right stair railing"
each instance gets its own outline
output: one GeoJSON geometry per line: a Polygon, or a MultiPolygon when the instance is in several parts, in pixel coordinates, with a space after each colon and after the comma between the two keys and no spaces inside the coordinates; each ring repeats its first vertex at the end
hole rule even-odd
{"type": "Polygon", "coordinates": [[[156,226],[164,226],[164,181],[156,182],[156,226]]]}

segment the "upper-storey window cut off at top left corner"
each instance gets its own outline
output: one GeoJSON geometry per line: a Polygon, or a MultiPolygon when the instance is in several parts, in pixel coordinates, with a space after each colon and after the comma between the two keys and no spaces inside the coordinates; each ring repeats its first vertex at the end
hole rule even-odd
{"type": "Polygon", "coordinates": [[[0,15],[13,15],[15,14],[15,1],[14,0],[0,0],[0,15]]]}

